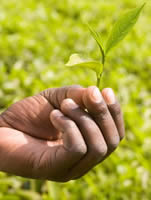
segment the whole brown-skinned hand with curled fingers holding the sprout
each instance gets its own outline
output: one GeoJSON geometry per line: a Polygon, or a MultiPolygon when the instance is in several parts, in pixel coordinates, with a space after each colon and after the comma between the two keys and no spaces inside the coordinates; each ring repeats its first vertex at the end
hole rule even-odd
{"type": "Polygon", "coordinates": [[[111,89],[52,88],[0,115],[0,170],[65,182],[102,162],[124,137],[111,89]]]}

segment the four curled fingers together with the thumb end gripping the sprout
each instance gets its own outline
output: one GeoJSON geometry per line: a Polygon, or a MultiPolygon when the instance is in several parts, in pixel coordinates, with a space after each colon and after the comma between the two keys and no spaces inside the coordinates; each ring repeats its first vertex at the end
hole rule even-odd
{"type": "Polygon", "coordinates": [[[62,111],[51,113],[54,127],[64,133],[63,145],[55,150],[54,171],[59,174],[61,166],[68,180],[81,177],[113,152],[124,137],[120,105],[111,89],[101,94],[95,86],[57,88],[46,96],[62,111]]]}

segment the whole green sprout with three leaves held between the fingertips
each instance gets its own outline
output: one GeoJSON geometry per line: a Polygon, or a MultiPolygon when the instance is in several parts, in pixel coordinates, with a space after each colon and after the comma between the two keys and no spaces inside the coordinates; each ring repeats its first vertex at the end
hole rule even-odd
{"type": "Polygon", "coordinates": [[[89,68],[93,71],[95,71],[97,76],[97,87],[100,86],[100,80],[103,73],[104,65],[106,62],[106,56],[109,53],[109,51],[116,46],[121,40],[125,38],[125,36],[130,32],[130,30],[133,28],[135,23],[138,20],[138,17],[145,6],[145,3],[137,7],[135,9],[132,9],[128,12],[126,12],[124,15],[122,15],[115,25],[113,26],[113,29],[111,33],[109,34],[109,37],[107,39],[105,48],[103,48],[101,44],[101,37],[100,34],[96,31],[94,31],[89,25],[88,28],[91,32],[91,35],[97,42],[100,52],[101,52],[101,62],[94,61],[94,60],[84,60],[82,59],[79,54],[72,54],[69,58],[68,63],[66,66],[69,67],[85,67],[89,68]]]}

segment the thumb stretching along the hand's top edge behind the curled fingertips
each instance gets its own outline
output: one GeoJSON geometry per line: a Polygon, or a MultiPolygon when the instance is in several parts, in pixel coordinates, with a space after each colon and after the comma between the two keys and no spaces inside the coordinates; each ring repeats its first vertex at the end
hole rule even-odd
{"type": "Polygon", "coordinates": [[[79,106],[84,107],[83,94],[86,89],[79,85],[66,86],[61,88],[49,88],[40,93],[55,108],[60,108],[62,101],[66,98],[73,99],[79,106]]]}

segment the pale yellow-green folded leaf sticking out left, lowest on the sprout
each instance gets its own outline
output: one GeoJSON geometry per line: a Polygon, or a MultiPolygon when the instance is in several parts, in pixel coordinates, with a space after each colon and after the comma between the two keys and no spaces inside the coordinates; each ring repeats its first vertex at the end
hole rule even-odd
{"type": "Polygon", "coordinates": [[[93,60],[85,60],[82,59],[79,54],[72,54],[69,58],[68,63],[66,64],[68,67],[80,67],[80,68],[88,68],[96,72],[97,76],[102,73],[103,67],[100,62],[93,60]]]}

